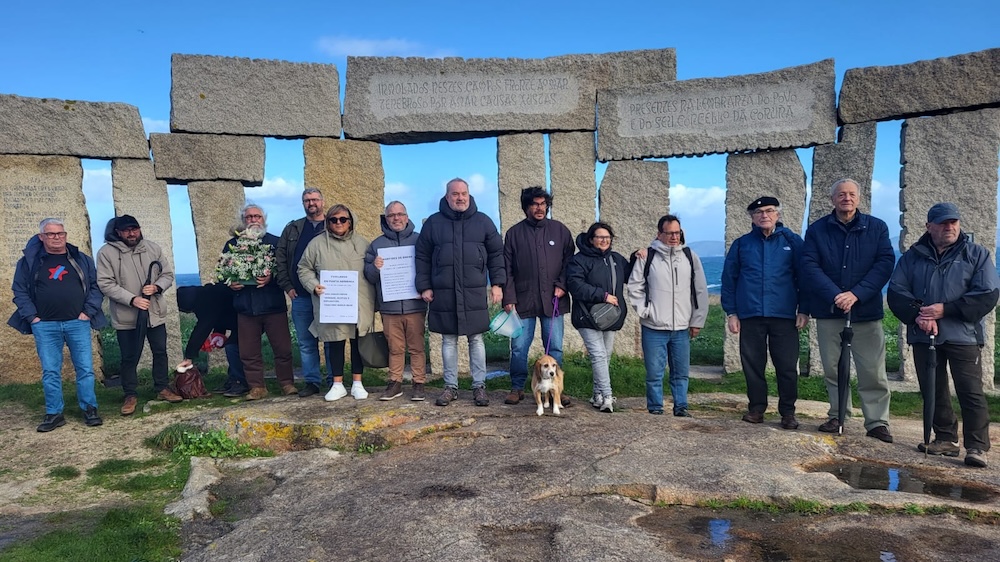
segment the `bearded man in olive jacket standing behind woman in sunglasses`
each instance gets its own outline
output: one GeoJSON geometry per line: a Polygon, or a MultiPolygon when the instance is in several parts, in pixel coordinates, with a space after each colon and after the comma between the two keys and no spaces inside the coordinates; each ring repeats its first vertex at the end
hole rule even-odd
{"type": "MultiPolygon", "coordinates": [[[[302,253],[317,234],[323,233],[326,219],[324,218],[323,194],[315,187],[307,187],[302,192],[302,208],[306,216],[291,221],[281,231],[278,246],[274,249],[274,258],[278,264],[278,285],[292,300],[292,324],[295,325],[295,335],[299,342],[299,355],[302,358],[302,377],[306,384],[299,391],[299,396],[306,398],[320,393],[320,383],[323,382],[319,373],[319,341],[309,332],[313,321],[312,295],[302,287],[299,281],[298,268],[302,253]]],[[[329,375],[330,384],[333,379],[329,375]]]]}

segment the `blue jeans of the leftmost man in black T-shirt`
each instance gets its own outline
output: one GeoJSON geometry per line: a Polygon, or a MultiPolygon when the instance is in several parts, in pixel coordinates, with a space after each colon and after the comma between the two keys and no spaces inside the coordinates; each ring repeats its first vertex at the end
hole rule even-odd
{"type": "Polygon", "coordinates": [[[31,325],[35,336],[35,349],[42,363],[42,392],[45,394],[45,413],[61,414],[62,399],[62,347],[69,347],[69,356],[76,369],[76,399],[80,409],[97,407],[94,394],[94,353],[90,343],[89,320],[63,322],[35,322],[31,325]]]}

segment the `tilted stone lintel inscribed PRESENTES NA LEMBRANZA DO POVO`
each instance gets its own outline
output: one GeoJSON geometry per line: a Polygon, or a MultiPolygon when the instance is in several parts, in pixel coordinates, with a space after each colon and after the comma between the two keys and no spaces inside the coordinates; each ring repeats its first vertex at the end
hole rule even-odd
{"type": "Polygon", "coordinates": [[[833,60],[760,74],[600,90],[601,161],[833,142],[833,60]]]}

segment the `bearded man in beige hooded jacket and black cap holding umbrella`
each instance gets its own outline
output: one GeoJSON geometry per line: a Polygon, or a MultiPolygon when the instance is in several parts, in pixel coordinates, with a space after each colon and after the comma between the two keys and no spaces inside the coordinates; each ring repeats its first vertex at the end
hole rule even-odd
{"type": "MultiPolygon", "coordinates": [[[[174,269],[163,250],[142,236],[139,221],[131,215],[114,220],[114,228],[105,234],[107,244],[97,252],[97,286],[108,297],[111,308],[111,325],[118,333],[121,347],[122,391],[125,400],[121,413],[135,413],[136,387],[139,385],[136,367],[142,354],[143,342],[136,319],[140,310],[149,312],[146,341],[153,353],[153,390],[157,400],[180,402],[180,396],[170,390],[167,378],[167,306],[163,299],[174,283],[174,269]],[[145,283],[150,264],[159,262],[159,273],[145,283]]],[[[155,271],[157,268],[153,268],[155,271]]]]}

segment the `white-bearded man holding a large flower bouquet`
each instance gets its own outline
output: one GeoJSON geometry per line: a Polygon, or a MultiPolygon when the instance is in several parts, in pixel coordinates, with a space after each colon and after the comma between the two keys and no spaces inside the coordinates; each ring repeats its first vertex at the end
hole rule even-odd
{"type": "Polygon", "coordinates": [[[236,291],[233,308],[239,327],[240,360],[250,392],[247,400],[267,396],[261,337],[267,334],[274,351],[274,372],[282,394],[297,394],[292,373],[292,335],[288,330],[285,293],[274,276],[274,247],[278,237],[267,232],[267,214],[259,205],[243,207],[243,230],[226,242],[216,275],[236,291]]]}

